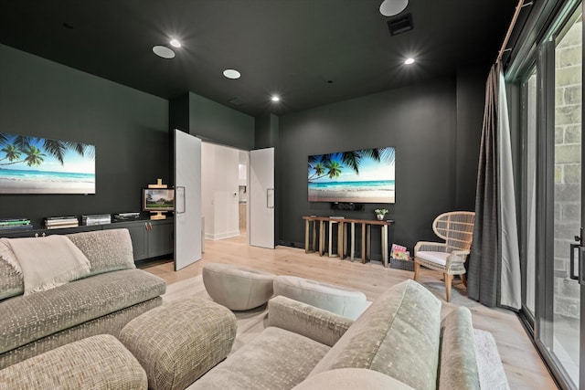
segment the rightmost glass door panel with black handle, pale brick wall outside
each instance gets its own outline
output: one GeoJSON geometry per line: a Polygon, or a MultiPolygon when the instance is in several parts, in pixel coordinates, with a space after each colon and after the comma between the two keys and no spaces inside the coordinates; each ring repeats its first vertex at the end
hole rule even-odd
{"type": "Polygon", "coordinates": [[[571,385],[580,383],[579,247],[581,222],[581,64],[580,7],[558,27],[542,50],[547,58],[547,153],[550,202],[547,213],[544,322],[537,336],[571,385]]]}

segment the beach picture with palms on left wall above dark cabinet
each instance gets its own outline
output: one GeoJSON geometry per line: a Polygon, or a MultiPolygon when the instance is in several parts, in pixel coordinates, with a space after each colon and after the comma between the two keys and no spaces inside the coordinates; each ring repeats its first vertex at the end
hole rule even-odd
{"type": "Polygon", "coordinates": [[[0,132],[0,194],[95,194],[95,146],[0,132]]]}

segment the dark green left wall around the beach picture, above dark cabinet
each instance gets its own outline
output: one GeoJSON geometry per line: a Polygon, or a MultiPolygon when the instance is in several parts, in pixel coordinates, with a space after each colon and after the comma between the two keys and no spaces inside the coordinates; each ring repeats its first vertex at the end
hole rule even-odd
{"type": "Polygon", "coordinates": [[[0,132],[96,146],[95,195],[0,195],[0,217],[140,211],[169,176],[168,102],[0,45],[0,132]]]}

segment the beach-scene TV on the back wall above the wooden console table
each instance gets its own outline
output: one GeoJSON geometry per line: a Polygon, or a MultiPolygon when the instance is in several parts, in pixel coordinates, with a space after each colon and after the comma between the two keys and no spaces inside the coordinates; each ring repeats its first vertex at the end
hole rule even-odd
{"type": "Polygon", "coordinates": [[[396,202],[391,146],[309,156],[309,202],[396,202]]]}

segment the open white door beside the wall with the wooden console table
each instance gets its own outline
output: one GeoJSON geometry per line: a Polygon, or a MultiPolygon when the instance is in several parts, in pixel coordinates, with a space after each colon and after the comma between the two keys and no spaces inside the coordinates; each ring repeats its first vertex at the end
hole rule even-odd
{"type": "Polygon", "coordinates": [[[250,151],[251,246],[274,248],[274,148],[250,151]]]}

